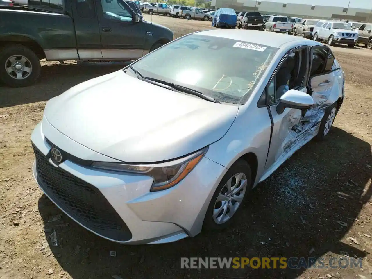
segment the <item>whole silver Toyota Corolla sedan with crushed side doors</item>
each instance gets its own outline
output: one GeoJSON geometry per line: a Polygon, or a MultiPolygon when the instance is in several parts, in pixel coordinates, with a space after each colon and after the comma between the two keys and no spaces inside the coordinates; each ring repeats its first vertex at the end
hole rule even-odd
{"type": "Polygon", "coordinates": [[[253,187],[327,136],[343,89],[319,42],[195,32],[49,100],[31,137],[33,174],[65,214],[108,240],[193,237],[229,226],[253,187]],[[216,63],[200,67],[205,57],[216,63]]]}

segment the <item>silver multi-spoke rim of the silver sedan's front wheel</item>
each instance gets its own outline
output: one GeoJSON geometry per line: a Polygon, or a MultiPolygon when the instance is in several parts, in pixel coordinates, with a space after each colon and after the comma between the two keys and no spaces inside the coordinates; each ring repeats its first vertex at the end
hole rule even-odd
{"type": "Polygon", "coordinates": [[[221,225],[235,214],[247,190],[247,177],[244,173],[237,173],[227,180],[219,192],[214,204],[213,220],[221,225]]]}

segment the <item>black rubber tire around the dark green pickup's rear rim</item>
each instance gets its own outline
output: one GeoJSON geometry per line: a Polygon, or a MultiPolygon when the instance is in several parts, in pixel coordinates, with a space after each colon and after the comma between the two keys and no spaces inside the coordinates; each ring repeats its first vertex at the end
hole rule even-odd
{"type": "MultiPolygon", "coordinates": [[[[9,62],[8,62],[9,64],[9,62]]],[[[8,65],[9,66],[9,65],[8,65]]],[[[19,44],[10,44],[0,49],[0,80],[10,87],[25,87],[36,82],[40,76],[41,65],[38,56],[28,47],[19,44]],[[12,56],[19,59],[22,55],[27,59],[26,67],[31,66],[31,73],[24,79],[11,77],[6,71],[6,62],[12,56]],[[30,64],[30,65],[29,65],[30,64]]],[[[15,73],[15,72],[14,72],[15,73]]],[[[25,73],[25,72],[23,72],[25,73]]]]}

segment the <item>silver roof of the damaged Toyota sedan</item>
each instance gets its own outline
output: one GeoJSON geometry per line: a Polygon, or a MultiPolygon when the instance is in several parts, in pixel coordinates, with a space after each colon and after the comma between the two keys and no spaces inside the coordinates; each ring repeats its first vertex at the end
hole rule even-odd
{"type": "Polygon", "coordinates": [[[229,29],[210,29],[205,31],[195,32],[198,35],[214,36],[220,38],[227,38],[236,41],[250,42],[252,44],[262,44],[269,47],[280,48],[283,44],[294,41],[303,41],[304,45],[321,45],[319,42],[315,42],[309,39],[305,39],[299,36],[291,36],[286,34],[280,34],[275,32],[263,32],[257,30],[229,30],[229,29]]]}

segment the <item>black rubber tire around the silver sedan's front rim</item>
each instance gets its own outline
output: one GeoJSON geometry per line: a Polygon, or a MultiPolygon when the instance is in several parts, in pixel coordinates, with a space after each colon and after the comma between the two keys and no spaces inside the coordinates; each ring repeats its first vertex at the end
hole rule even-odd
{"type": "Polygon", "coordinates": [[[243,207],[244,202],[247,199],[248,193],[250,192],[251,177],[252,177],[251,168],[246,161],[240,159],[240,160],[236,161],[234,164],[232,164],[230,169],[228,169],[228,171],[225,173],[221,182],[217,186],[217,189],[215,190],[214,195],[212,196],[211,202],[209,203],[208,209],[207,209],[205,217],[204,217],[204,223],[203,223],[203,228],[204,229],[212,230],[212,231],[221,230],[221,229],[224,229],[224,228],[228,227],[231,224],[231,222],[234,221],[236,216],[241,213],[241,208],[243,207]],[[234,176],[235,174],[238,174],[238,173],[244,173],[246,178],[247,178],[247,186],[246,186],[246,190],[245,190],[245,193],[244,193],[244,196],[243,196],[243,200],[241,201],[239,207],[237,208],[237,211],[235,211],[234,215],[232,215],[231,218],[228,221],[226,221],[222,224],[217,224],[214,221],[214,218],[213,218],[213,211],[215,209],[215,204],[217,202],[217,197],[218,197],[219,193],[221,192],[221,190],[224,188],[225,183],[232,176],[234,176]]]}

